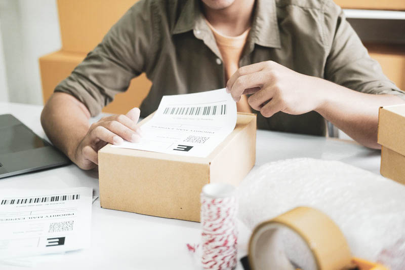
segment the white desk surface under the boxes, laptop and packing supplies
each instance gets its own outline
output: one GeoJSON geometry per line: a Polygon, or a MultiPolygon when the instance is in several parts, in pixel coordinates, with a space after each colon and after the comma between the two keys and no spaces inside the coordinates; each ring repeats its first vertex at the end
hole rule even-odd
{"type": "MultiPolygon", "coordinates": [[[[39,122],[42,106],[0,102],[0,114],[12,113],[36,134],[45,137],[39,122]]],[[[281,132],[257,132],[256,166],[288,158],[339,160],[379,173],[380,151],[354,142],[281,132]]],[[[255,169],[255,168],[254,168],[255,169]]],[[[0,179],[0,188],[92,187],[98,195],[96,172],[75,165],[0,179]]],[[[90,249],[44,257],[34,269],[193,269],[186,243],[199,242],[199,223],[100,208],[92,209],[90,249]]],[[[244,253],[249,230],[239,228],[239,251],[244,253]]],[[[5,269],[29,269],[2,266],[5,269]]],[[[238,269],[242,267],[238,265],[238,269]]]]}

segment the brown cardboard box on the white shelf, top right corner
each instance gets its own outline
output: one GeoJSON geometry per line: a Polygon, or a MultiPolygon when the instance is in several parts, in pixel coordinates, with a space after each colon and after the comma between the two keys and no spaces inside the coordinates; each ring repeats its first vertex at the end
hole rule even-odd
{"type": "Polygon", "coordinates": [[[403,0],[335,0],[344,9],[405,10],[403,0]]]}

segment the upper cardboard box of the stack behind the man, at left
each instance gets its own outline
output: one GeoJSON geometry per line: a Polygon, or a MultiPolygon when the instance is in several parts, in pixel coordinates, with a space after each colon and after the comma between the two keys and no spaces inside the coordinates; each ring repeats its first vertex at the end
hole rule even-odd
{"type": "Polygon", "coordinates": [[[62,50],[88,53],[137,0],[58,0],[62,50]]]}

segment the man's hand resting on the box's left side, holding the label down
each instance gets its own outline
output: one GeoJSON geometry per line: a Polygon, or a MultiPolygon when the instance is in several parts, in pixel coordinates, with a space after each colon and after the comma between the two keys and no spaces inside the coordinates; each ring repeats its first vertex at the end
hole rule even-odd
{"type": "Polygon", "coordinates": [[[93,169],[98,165],[97,151],[107,143],[121,144],[124,139],[138,142],[142,135],[137,126],[139,113],[139,108],[133,108],[126,115],[111,115],[92,124],[86,136],[75,147],[73,162],[84,170],[93,169]]]}

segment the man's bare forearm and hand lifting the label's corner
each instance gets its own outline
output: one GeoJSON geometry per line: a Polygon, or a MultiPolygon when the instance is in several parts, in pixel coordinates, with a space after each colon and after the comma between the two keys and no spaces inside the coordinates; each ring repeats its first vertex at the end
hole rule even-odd
{"type": "Polygon", "coordinates": [[[253,94],[248,102],[264,117],[278,111],[302,114],[314,110],[357,142],[376,149],[381,149],[378,108],[403,104],[398,96],[360,93],[272,61],[240,67],[226,89],[235,101],[242,94],[253,94]]]}

